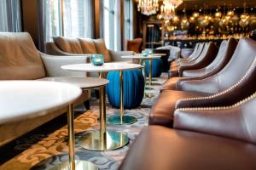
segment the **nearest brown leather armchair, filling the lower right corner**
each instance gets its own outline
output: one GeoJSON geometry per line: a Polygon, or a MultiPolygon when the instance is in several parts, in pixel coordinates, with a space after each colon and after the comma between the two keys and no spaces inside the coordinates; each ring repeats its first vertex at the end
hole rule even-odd
{"type": "Polygon", "coordinates": [[[255,110],[255,91],[235,105],[179,109],[175,129],[143,129],[119,169],[256,169],[255,110]]]}

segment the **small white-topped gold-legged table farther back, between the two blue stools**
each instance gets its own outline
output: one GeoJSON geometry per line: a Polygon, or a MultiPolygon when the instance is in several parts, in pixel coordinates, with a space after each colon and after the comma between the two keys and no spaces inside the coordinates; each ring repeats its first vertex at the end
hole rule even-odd
{"type": "MultiPolygon", "coordinates": [[[[160,55],[155,55],[155,54],[150,54],[148,56],[143,56],[142,54],[136,54],[136,55],[125,55],[125,56],[121,56],[121,58],[123,59],[140,59],[140,63],[141,65],[144,65],[143,67],[143,75],[144,75],[144,79],[146,80],[146,62],[145,60],[149,60],[149,73],[148,73],[148,89],[151,89],[151,85],[152,85],[152,60],[153,59],[160,59],[161,56],[160,55]]],[[[146,81],[145,81],[146,82],[146,81]]],[[[146,83],[145,83],[146,84],[146,83]]],[[[145,97],[147,98],[153,98],[154,94],[152,94],[150,91],[148,94],[145,94],[145,97]]]]}

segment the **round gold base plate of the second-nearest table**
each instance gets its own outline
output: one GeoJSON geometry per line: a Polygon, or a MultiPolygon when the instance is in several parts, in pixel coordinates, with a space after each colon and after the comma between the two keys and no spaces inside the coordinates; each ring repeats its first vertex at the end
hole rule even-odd
{"type": "Polygon", "coordinates": [[[79,144],[86,150],[116,150],[128,144],[129,139],[126,134],[116,131],[106,133],[89,132],[79,138],[79,144]]]}

